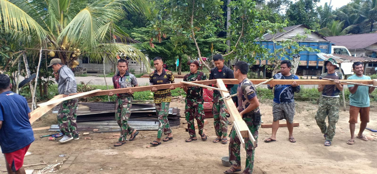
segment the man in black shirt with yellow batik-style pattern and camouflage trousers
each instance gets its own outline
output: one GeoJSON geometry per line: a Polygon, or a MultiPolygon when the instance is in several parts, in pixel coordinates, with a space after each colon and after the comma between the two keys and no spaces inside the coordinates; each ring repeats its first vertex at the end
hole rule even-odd
{"type": "MultiPolygon", "coordinates": [[[[153,65],[155,66],[156,70],[149,75],[149,83],[150,85],[160,85],[160,84],[169,84],[174,83],[174,76],[173,73],[169,70],[166,70],[162,67],[164,63],[162,62],[161,57],[155,57],[153,59],[153,65]]],[[[157,90],[156,87],[152,88],[152,92],[155,94],[153,95],[153,100],[156,106],[156,114],[158,116],[159,124],[158,124],[158,132],[157,132],[157,139],[151,142],[151,145],[158,146],[161,144],[161,136],[162,133],[167,135],[162,141],[167,142],[173,139],[172,130],[170,129],[169,121],[167,116],[169,115],[169,104],[172,101],[172,93],[170,90],[173,90],[174,86],[170,86],[169,89],[159,89],[157,90]]]]}

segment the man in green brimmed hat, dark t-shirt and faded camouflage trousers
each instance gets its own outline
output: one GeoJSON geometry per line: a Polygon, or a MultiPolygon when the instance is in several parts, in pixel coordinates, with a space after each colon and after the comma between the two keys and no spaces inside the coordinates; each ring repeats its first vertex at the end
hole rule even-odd
{"type": "Polygon", "coordinates": [[[339,80],[343,79],[343,74],[335,71],[337,63],[333,58],[326,60],[323,66],[326,66],[327,72],[321,74],[321,77],[334,79],[335,85],[318,85],[318,91],[322,92],[322,96],[319,99],[315,119],[326,139],[325,146],[330,146],[335,135],[335,125],[339,119],[339,93],[343,90],[343,85],[339,80]],[[326,117],[329,123],[327,126],[326,117]]]}

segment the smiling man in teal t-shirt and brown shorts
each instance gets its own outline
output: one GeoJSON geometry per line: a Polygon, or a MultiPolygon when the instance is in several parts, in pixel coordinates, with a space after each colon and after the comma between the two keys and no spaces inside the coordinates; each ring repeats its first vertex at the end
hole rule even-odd
{"type": "MultiPolygon", "coordinates": [[[[349,80],[370,80],[369,76],[363,75],[364,67],[361,62],[352,64],[354,75],[348,77],[349,80]]],[[[347,85],[349,92],[349,129],[351,131],[351,139],[348,140],[349,145],[355,143],[355,125],[357,123],[357,116],[360,113],[360,131],[357,138],[364,141],[368,139],[363,135],[366,124],[369,122],[369,94],[373,92],[374,87],[347,85]]]]}

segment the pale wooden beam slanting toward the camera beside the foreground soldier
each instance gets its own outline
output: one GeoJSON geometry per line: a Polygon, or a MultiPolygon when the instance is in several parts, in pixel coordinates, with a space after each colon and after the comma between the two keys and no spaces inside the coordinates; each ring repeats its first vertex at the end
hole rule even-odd
{"type": "MultiPolygon", "coordinates": [[[[227,89],[227,87],[225,87],[225,84],[222,81],[222,79],[216,79],[216,80],[217,80],[217,86],[220,89],[227,89]]],[[[229,96],[228,92],[220,91],[220,93],[221,93],[222,97],[229,96]]],[[[233,119],[233,122],[237,122],[238,131],[240,132],[240,136],[241,137],[249,137],[251,139],[251,141],[253,142],[254,147],[255,147],[256,141],[255,141],[253,136],[251,136],[251,137],[249,136],[250,130],[247,127],[245,121],[242,119],[241,115],[239,114],[239,112],[236,108],[236,105],[234,105],[234,103],[233,103],[233,100],[224,100],[224,103],[227,106],[227,109],[229,111],[231,118],[233,119]]],[[[240,137],[240,139],[241,139],[241,137],[240,137]]]]}

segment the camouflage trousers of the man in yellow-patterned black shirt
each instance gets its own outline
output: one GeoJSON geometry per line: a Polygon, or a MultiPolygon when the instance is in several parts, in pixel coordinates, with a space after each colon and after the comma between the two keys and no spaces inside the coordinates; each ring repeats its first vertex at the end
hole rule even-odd
{"type": "Polygon", "coordinates": [[[169,104],[170,102],[161,102],[156,103],[156,114],[158,116],[158,131],[157,131],[157,138],[161,138],[162,133],[165,135],[172,133],[172,129],[170,129],[169,121],[167,120],[167,116],[169,115],[169,104]]]}

